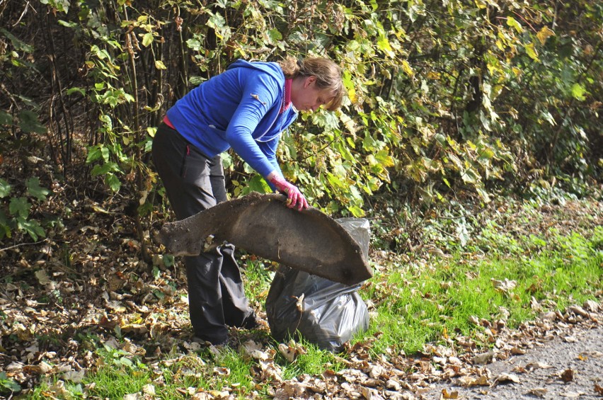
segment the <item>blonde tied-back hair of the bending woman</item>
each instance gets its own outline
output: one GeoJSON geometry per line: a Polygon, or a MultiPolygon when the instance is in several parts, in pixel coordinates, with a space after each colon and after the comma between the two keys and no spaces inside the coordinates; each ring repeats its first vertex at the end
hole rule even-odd
{"type": "Polygon", "coordinates": [[[331,91],[331,101],[325,107],[329,111],[340,108],[343,100],[343,80],[341,79],[341,69],[331,59],[324,57],[307,57],[297,59],[287,57],[278,62],[285,74],[286,79],[294,79],[298,76],[316,76],[316,86],[321,89],[331,91]]]}

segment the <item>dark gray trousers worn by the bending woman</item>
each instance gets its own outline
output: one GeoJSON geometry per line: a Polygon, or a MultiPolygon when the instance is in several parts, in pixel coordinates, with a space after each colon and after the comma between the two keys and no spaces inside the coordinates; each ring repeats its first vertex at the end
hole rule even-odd
{"type": "MultiPolygon", "coordinates": [[[[185,219],[226,200],[220,157],[208,159],[165,123],[155,134],[152,156],[176,218],[185,219]]],[[[228,338],[226,325],[242,326],[253,316],[234,246],[224,244],[199,256],[185,257],[185,265],[195,335],[214,344],[223,343],[228,338]]]]}

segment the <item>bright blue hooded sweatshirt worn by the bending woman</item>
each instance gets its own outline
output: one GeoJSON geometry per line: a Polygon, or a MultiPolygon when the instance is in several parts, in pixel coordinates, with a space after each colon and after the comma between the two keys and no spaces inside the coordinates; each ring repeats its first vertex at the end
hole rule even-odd
{"type": "Polygon", "coordinates": [[[297,118],[285,102],[285,74],[275,62],[237,60],[180,98],[167,116],[185,139],[212,158],[230,147],[266,177],[280,173],[281,132],[297,118]]]}

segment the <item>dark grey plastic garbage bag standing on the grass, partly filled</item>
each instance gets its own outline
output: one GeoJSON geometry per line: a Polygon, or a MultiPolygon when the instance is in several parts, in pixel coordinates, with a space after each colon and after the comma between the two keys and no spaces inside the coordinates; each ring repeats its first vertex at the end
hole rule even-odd
{"type": "MultiPolygon", "coordinates": [[[[370,227],[364,218],[337,219],[368,259],[370,227]]],[[[299,338],[337,352],[355,333],[369,327],[367,305],[358,294],[362,283],[348,286],[280,265],[272,280],[266,314],[277,341],[299,338]]]]}

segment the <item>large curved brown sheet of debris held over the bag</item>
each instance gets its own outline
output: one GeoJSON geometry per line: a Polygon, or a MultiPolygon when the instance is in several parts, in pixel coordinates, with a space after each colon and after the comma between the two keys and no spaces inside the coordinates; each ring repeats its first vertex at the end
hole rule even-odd
{"type": "Polygon", "coordinates": [[[372,277],[360,245],[334,219],[315,208],[289,209],[280,194],[251,193],[197,215],[164,224],[157,239],[175,256],[228,241],[271,261],[345,285],[372,277]]]}

